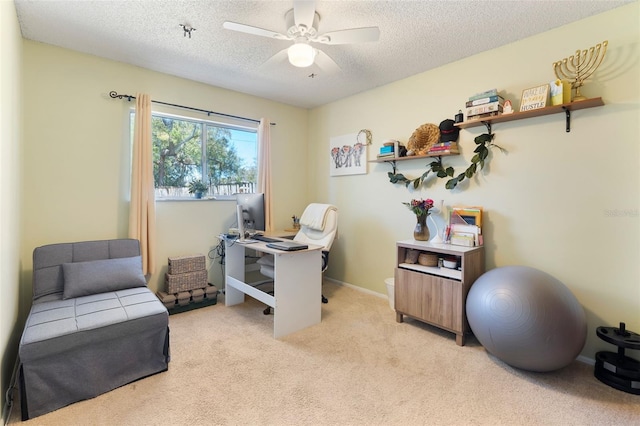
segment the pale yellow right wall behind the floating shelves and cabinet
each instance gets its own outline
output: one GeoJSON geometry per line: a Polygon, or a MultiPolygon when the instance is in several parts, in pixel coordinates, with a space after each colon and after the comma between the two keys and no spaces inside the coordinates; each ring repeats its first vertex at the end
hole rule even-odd
{"type": "MultiPolygon", "coordinates": [[[[587,312],[584,356],[615,349],[596,337],[599,325],[625,321],[640,330],[639,14],[636,2],[313,110],[310,188],[340,209],[328,276],[385,293],[394,243],[412,237],[415,221],[401,202],[429,197],[482,205],[487,268],[528,265],[565,283],[587,312]],[[574,112],[571,133],[562,113],[494,125],[495,143],[508,154],[494,151],[485,173],[459,189],[431,179],[412,192],[389,183],[387,164],[369,164],[367,175],[328,177],[332,136],[370,129],[368,154],[375,158],[383,140],[406,143],[421,124],[452,118],[474,93],[498,88],[517,107],[523,89],[555,78],[554,61],[603,40],[606,59],[583,93],[606,105],[574,112]]],[[[464,171],[473,139],[484,131],[462,130],[462,155],[446,165],[464,171]]],[[[398,166],[417,177],[427,163],[398,166]]]]}

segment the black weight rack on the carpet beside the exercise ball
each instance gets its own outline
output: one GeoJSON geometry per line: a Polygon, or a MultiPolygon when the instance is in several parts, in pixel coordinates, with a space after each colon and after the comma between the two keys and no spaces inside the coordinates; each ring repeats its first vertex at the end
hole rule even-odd
{"type": "Polygon", "coordinates": [[[625,349],[640,350],[640,335],[620,327],[598,327],[596,334],[618,347],[618,352],[596,353],[594,375],[601,382],[624,392],[640,395],[640,361],[625,355],[625,349]]]}

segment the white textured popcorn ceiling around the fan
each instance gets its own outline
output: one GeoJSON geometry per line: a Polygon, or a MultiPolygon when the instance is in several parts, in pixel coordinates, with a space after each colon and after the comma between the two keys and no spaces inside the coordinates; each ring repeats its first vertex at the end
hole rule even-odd
{"type": "Polygon", "coordinates": [[[285,33],[292,0],[14,1],[26,39],[312,108],[632,0],[317,1],[320,33],[380,28],[374,43],[314,44],[338,72],[267,62],[291,42],[222,27],[233,21],[285,33]],[[195,28],[191,38],[180,24],[195,28]]]}

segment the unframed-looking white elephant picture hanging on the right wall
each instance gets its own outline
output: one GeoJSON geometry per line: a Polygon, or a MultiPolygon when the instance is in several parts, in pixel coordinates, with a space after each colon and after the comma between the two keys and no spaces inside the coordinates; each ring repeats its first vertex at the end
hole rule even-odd
{"type": "Polygon", "coordinates": [[[329,140],[330,176],[367,174],[367,145],[358,134],[334,136],[329,140]]]}

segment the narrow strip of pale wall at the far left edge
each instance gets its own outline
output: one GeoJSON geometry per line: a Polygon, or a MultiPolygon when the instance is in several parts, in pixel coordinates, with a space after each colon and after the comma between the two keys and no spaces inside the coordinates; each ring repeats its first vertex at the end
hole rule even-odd
{"type": "Polygon", "coordinates": [[[22,323],[20,275],[20,162],[22,36],[13,2],[0,1],[0,382],[9,387],[22,323]]]}

